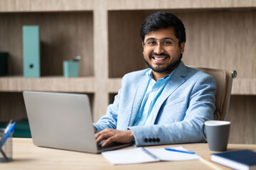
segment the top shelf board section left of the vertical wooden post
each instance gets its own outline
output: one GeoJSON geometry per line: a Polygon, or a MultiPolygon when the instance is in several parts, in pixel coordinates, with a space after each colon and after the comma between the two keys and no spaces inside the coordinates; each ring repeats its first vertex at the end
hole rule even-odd
{"type": "Polygon", "coordinates": [[[94,0],[0,0],[0,12],[90,11],[94,0]]]}

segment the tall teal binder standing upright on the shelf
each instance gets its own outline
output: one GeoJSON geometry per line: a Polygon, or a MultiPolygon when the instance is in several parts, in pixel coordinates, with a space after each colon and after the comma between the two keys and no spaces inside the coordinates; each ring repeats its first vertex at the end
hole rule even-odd
{"type": "Polygon", "coordinates": [[[39,26],[23,26],[23,76],[40,77],[39,26]]]}

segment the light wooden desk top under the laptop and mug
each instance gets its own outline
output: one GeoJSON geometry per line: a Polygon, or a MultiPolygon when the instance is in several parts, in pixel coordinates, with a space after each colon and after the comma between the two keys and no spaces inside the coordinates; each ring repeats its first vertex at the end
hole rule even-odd
{"type": "MultiPolygon", "coordinates": [[[[154,162],[146,164],[112,165],[107,162],[102,154],[87,154],[83,152],[72,152],[61,149],[50,149],[36,147],[31,139],[13,139],[13,162],[0,163],[0,169],[213,169],[200,160],[184,162],[154,162]]],[[[196,152],[196,154],[209,159],[210,152],[207,144],[185,144],[185,145],[160,145],[157,147],[177,147],[196,152]]],[[[133,147],[127,147],[133,148],[133,147]]],[[[256,151],[256,145],[228,145],[228,150],[252,149],[256,151]]],[[[217,169],[228,169],[225,166],[215,165],[217,169]]]]}

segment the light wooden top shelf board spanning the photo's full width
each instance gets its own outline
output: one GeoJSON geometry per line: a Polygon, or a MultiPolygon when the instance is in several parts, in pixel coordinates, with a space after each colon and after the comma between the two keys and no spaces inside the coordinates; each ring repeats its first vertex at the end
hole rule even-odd
{"type": "Polygon", "coordinates": [[[0,0],[0,12],[24,11],[92,11],[98,6],[107,10],[138,9],[200,9],[200,8],[252,8],[256,1],[240,0],[0,0]]]}

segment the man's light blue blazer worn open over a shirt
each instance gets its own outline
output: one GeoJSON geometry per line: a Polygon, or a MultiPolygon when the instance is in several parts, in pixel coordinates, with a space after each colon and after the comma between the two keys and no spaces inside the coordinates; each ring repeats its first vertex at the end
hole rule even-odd
{"type": "Polygon", "coordinates": [[[114,103],[93,125],[97,132],[132,130],[134,145],[204,142],[202,125],[213,120],[215,79],[181,62],[152,110],[154,125],[132,126],[149,83],[149,69],[124,75],[114,103]]]}

